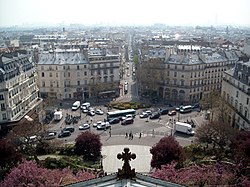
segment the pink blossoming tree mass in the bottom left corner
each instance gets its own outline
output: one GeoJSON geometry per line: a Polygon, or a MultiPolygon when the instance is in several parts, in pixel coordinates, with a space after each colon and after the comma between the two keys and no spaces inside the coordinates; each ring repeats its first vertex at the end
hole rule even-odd
{"type": "Polygon", "coordinates": [[[24,187],[24,186],[61,186],[73,182],[95,178],[88,171],[79,171],[74,175],[68,168],[63,170],[50,170],[38,166],[33,161],[23,161],[5,177],[0,183],[1,187],[24,187]]]}

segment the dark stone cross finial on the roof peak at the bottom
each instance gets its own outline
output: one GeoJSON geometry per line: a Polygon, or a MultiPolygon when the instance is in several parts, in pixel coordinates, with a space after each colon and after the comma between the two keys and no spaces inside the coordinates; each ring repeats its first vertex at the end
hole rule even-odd
{"type": "Polygon", "coordinates": [[[135,169],[131,169],[129,161],[131,161],[131,159],[135,159],[136,155],[134,153],[131,154],[131,152],[129,152],[129,148],[124,148],[124,152],[122,154],[117,154],[117,158],[119,160],[122,159],[122,161],[124,161],[122,169],[118,169],[118,178],[128,179],[135,177],[135,169]]]}

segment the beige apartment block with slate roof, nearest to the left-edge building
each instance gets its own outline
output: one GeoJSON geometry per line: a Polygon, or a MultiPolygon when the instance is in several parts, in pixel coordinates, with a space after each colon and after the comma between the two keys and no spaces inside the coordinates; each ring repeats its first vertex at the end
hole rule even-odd
{"type": "Polygon", "coordinates": [[[88,61],[80,49],[56,49],[42,53],[37,72],[42,98],[89,97],[88,61]]]}

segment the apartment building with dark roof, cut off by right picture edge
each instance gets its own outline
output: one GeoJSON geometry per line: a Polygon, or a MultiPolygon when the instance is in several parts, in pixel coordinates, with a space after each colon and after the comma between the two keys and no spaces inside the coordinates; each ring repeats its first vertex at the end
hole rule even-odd
{"type": "Polygon", "coordinates": [[[249,130],[250,61],[237,62],[235,68],[224,72],[221,94],[228,104],[228,122],[239,129],[249,130]]]}

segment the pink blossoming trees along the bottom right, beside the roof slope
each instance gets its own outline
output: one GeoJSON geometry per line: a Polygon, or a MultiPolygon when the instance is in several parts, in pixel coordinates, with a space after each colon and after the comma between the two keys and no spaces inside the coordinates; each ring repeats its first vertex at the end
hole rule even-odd
{"type": "Polygon", "coordinates": [[[221,163],[213,165],[191,165],[189,167],[176,169],[176,163],[172,162],[154,171],[152,176],[186,186],[236,184],[249,186],[250,181],[245,176],[237,175],[237,170],[237,166],[221,163]]]}

